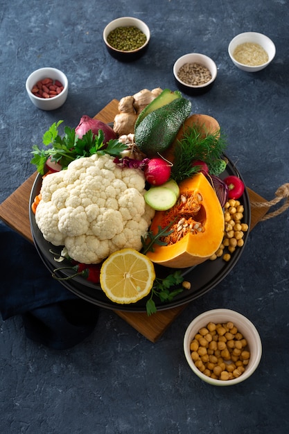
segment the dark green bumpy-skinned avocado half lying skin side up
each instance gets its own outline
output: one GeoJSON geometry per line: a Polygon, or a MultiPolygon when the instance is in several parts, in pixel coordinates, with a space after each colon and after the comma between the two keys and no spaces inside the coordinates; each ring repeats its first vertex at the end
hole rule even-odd
{"type": "Polygon", "coordinates": [[[147,114],[134,131],[139,150],[148,158],[163,153],[190,113],[191,101],[181,97],[147,114]]]}

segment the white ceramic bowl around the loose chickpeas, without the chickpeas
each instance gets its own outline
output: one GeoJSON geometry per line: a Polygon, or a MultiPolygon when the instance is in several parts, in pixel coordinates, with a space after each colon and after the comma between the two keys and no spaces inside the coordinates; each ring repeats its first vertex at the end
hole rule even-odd
{"type": "Polygon", "coordinates": [[[237,383],[245,381],[247,378],[249,378],[249,376],[251,376],[256,370],[256,367],[258,367],[262,355],[261,338],[258,331],[254,327],[254,324],[252,324],[252,322],[249,321],[245,316],[241,315],[236,311],[231,311],[230,309],[213,309],[211,311],[201,313],[191,322],[191,324],[189,324],[189,327],[186,329],[186,333],[184,335],[184,354],[186,357],[186,361],[191,367],[191,370],[193,370],[193,372],[206,383],[209,383],[211,385],[223,386],[236,385],[237,383]],[[240,331],[240,333],[242,333],[244,338],[247,340],[248,348],[250,351],[249,363],[245,368],[245,372],[243,372],[243,374],[241,374],[235,379],[211,379],[211,377],[203,374],[198,369],[198,367],[195,366],[195,363],[191,358],[191,341],[195,337],[195,334],[198,333],[198,331],[202,327],[207,327],[207,324],[209,322],[214,322],[216,324],[233,322],[234,325],[237,327],[238,331],[240,331]]]}

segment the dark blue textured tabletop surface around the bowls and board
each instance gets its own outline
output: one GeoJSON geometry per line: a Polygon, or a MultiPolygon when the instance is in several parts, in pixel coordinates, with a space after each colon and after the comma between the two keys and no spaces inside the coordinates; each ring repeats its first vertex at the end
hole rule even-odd
{"type": "MultiPolygon", "coordinates": [[[[175,89],[173,63],[191,51],[218,66],[211,92],[190,98],[193,112],[218,119],[247,185],[270,200],[289,182],[287,0],[0,0],[0,37],[0,202],[33,173],[31,146],[51,123],[74,127],[113,98],[175,89]],[[152,33],[145,57],[132,64],[111,58],[102,41],[105,25],[125,15],[143,19],[152,33]],[[229,41],[243,31],[275,42],[264,71],[244,73],[229,60],[229,41]],[[25,91],[27,76],[46,66],[69,78],[67,102],[54,112],[37,110],[25,91]]],[[[1,320],[1,432],[287,433],[288,215],[259,223],[230,275],[155,344],[105,310],[94,333],[65,351],[28,340],[19,317],[1,320]],[[263,341],[259,369],[235,387],[202,383],[182,350],[189,322],[218,307],[247,315],[263,341]]],[[[19,261],[25,266],[25,249],[19,261]]]]}

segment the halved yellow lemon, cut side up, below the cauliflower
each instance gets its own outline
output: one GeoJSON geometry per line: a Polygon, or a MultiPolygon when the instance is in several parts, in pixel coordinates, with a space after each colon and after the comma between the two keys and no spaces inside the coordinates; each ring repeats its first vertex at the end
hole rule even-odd
{"type": "Polygon", "coordinates": [[[123,249],[108,257],[100,269],[100,286],[107,297],[130,304],[146,297],[155,280],[155,267],[146,255],[123,249]]]}

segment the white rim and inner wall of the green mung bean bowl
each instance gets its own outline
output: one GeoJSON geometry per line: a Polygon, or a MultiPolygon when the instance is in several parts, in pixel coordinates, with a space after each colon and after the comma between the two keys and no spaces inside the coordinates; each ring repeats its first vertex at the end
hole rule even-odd
{"type": "Polygon", "coordinates": [[[103,30],[103,40],[104,40],[105,44],[111,50],[116,51],[118,53],[123,53],[123,54],[136,53],[137,51],[142,50],[145,46],[148,45],[148,42],[150,41],[150,29],[148,28],[146,23],[144,23],[143,21],[141,21],[141,19],[138,19],[138,18],[134,18],[134,17],[116,18],[113,21],[110,21],[110,23],[107,24],[107,26],[105,26],[105,28],[103,30]],[[118,49],[114,48],[114,46],[111,46],[107,42],[107,36],[110,34],[110,32],[114,31],[115,28],[130,27],[130,26],[134,26],[134,27],[139,28],[139,30],[141,32],[143,32],[144,35],[146,35],[146,42],[142,46],[140,46],[138,49],[131,50],[131,51],[118,50],[118,49]]]}

